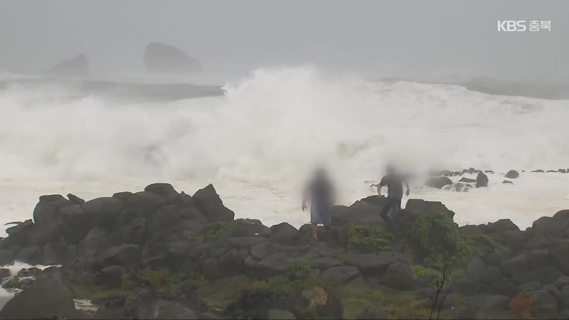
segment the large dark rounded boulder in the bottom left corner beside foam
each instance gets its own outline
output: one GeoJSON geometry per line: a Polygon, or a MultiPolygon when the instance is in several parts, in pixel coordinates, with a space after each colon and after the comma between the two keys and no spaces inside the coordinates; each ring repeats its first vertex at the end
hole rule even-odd
{"type": "Polygon", "coordinates": [[[0,319],[75,318],[73,294],[59,273],[38,278],[0,310],[0,319]]]}

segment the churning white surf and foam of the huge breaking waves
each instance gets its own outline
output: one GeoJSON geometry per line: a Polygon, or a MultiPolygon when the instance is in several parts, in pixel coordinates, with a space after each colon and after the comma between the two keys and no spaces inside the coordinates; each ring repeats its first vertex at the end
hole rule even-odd
{"type": "Polygon", "coordinates": [[[364,182],[395,162],[418,172],[496,171],[489,188],[413,190],[442,201],[460,224],[510,218],[525,228],[569,208],[569,174],[529,173],[569,167],[567,100],[369,83],[312,68],[261,69],[224,97],[166,104],[57,90],[55,98],[17,86],[0,92],[2,223],[30,219],[43,194],[88,200],[152,182],[191,194],[211,182],[237,218],[298,227],[308,221],[300,186],[318,162],[333,169],[342,204],[374,194],[364,182]],[[504,185],[510,169],[528,172],[504,185]]]}

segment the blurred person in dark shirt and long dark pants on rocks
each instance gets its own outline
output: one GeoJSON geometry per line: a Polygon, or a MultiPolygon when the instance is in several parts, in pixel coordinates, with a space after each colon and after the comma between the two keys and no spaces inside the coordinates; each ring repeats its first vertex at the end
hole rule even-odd
{"type": "Polygon", "coordinates": [[[381,219],[384,219],[387,227],[397,228],[399,225],[399,219],[401,218],[401,198],[403,198],[403,183],[407,191],[405,195],[409,195],[409,184],[401,175],[395,172],[393,166],[387,166],[387,174],[381,179],[380,184],[377,185],[377,194],[381,195],[381,187],[387,186],[387,202],[381,208],[380,215],[381,219]],[[393,208],[393,218],[395,219],[395,225],[387,215],[389,209],[393,208]]]}

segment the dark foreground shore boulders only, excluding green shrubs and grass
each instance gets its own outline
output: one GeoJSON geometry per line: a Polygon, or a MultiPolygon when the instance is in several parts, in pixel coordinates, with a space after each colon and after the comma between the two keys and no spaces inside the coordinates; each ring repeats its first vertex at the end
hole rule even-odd
{"type": "MultiPolygon", "coordinates": [[[[193,196],[167,183],[86,202],[71,194],[67,199],[41,196],[33,221],[6,230],[9,236],[0,240],[0,264],[22,261],[61,267],[43,272],[32,268],[8,277],[4,285],[23,291],[0,310],[0,318],[89,318],[75,309],[76,297],[69,288],[81,284],[117,289],[125,281],[134,285],[135,297],[93,301],[100,306],[95,318],[305,318],[307,314],[343,318],[341,299],[320,287],[287,297],[272,290],[243,290],[225,310],[215,310],[200,298],[192,276],[201,274],[214,286],[232,288],[288,274],[295,261],[311,264],[310,269],[292,274],[291,281],[319,277],[354,288],[413,291],[417,300],[430,297],[432,278],[414,276],[417,261],[401,238],[382,252],[374,251],[372,244],[349,245],[353,225],[385,226],[378,215],[384,202],[385,198],[370,196],[349,207],[334,206],[329,240],[311,245],[310,225],[267,227],[259,220],[234,219],[211,184],[193,196]],[[135,277],[145,269],[182,275],[180,292],[147,289],[135,277]]],[[[410,199],[401,225],[407,228],[432,212],[454,216],[440,202],[410,199]]],[[[534,317],[569,313],[569,210],[540,218],[525,231],[507,219],[459,230],[477,239],[483,254],[469,260],[463,280],[448,285],[450,295],[443,307],[451,317],[468,318],[476,310],[508,314],[510,300],[522,291],[533,299],[534,317]],[[498,250],[488,239],[504,249],[498,250]]],[[[381,310],[378,301],[362,310],[361,317],[378,318],[381,310]]]]}

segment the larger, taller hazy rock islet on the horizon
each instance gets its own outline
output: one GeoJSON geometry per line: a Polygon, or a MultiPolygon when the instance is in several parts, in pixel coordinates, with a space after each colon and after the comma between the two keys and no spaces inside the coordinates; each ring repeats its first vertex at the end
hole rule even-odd
{"type": "Polygon", "coordinates": [[[160,42],[146,46],[146,71],[151,73],[195,73],[201,71],[201,62],[184,51],[160,42]]]}

